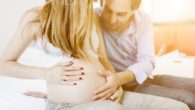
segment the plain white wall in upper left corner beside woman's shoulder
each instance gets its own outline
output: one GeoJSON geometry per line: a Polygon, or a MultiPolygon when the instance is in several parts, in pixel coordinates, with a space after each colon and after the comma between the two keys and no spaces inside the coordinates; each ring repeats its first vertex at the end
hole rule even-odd
{"type": "Polygon", "coordinates": [[[13,37],[23,13],[34,6],[40,6],[44,0],[1,0],[0,3],[0,56],[13,37]]]}

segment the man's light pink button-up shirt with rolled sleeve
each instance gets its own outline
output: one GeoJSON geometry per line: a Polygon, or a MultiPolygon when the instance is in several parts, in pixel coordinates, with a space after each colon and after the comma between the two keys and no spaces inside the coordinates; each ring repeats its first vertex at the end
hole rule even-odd
{"type": "Polygon", "coordinates": [[[103,34],[108,58],[118,72],[132,71],[139,84],[152,78],[155,52],[149,15],[138,10],[130,27],[121,35],[104,29],[103,34]]]}

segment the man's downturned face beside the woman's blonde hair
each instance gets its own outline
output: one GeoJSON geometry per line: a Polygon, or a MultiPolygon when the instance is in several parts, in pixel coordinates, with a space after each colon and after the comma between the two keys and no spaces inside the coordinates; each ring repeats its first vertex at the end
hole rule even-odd
{"type": "Polygon", "coordinates": [[[101,19],[108,30],[116,31],[130,22],[132,14],[131,0],[106,0],[101,19]]]}

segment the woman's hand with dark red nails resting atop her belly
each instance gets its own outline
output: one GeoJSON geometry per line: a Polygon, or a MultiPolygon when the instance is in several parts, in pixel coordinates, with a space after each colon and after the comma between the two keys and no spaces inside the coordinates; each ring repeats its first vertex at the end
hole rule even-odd
{"type": "Polygon", "coordinates": [[[83,68],[74,67],[73,62],[58,63],[47,68],[45,73],[48,82],[64,85],[77,85],[84,77],[83,68]]]}

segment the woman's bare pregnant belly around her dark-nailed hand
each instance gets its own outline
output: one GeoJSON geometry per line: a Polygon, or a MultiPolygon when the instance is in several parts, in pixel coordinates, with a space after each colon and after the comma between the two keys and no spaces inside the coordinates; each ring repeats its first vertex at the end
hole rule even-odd
{"type": "Polygon", "coordinates": [[[103,85],[106,80],[98,72],[104,70],[100,63],[90,63],[74,60],[74,66],[84,68],[84,77],[77,85],[68,86],[47,82],[48,99],[55,103],[79,104],[92,100],[93,92],[103,85]]]}

